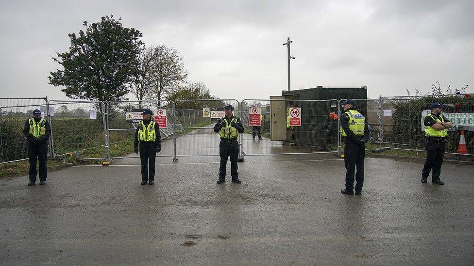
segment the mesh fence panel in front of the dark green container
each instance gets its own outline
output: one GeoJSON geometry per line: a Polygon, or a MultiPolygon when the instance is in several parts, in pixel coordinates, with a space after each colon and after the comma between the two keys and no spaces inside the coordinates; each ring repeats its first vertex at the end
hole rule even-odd
{"type": "Polygon", "coordinates": [[[338,122],[329,118],[337,112],[338,100],[246,99],[241,103],[242,122],[246,128],[242,136],[244,156],[332,153],[338,147],[338,122]],[[261,111],[258,126],[250,126],[250,110],[261,111]],[[301,125],[288,124],[290,110],[299,108],[301,125]],[[255,136],[255,138],[254,138],[255,136]]]}

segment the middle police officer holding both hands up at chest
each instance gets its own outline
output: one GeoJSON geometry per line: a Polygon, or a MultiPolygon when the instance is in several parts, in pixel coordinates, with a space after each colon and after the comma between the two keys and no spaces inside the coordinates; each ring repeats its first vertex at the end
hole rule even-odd
{"type": "Polygon", "coordinates": [[[225,165],[227,164],[227,158],[230,156],[230,166],[232,182],[242,183],[238,179],[237,172],[237,157],[238,157],[238,133],[244,132],[242,122],[237,116],[234,116],[232,111],[234,107],[230,104],[224,106],[225,116],[219,119],[216,125],[214,125],[214,132],[219,133],[220,144],[219,144],[219,155],[220,155],[220,168],[219,168],[219,180],[217,184],[225,182],[225,165]]]}

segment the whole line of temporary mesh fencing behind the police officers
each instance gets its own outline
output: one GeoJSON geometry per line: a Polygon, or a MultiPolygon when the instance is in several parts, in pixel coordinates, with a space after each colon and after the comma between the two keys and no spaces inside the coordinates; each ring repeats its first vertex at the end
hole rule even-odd
{"type": "MultiPolygon", "coordinates": [[[[179,156],[219,156],[220,137],[213,127],[224,116],[226,104],[235,107],[234,115],[245,128],[238,137],[239,160],[244,156],[341,153],[344,144],[339,127],[344,100],[291,100],[285,96],[242,102],[236,99],[101,102],[0,98],[0,163],[27,158],[22,129],[34,109],[42,110],[51,124],[52,157],[74,154],[81,160],[104,161],[138,157],[124,156],[124,151],[130,152],[133,147],[143,109],[153,110],[153,119],[161,125],[163,144],[158,156],[170,156],[174,161],[179,156]],[[337,113],[339,119],[332,119],[331,112],[337,113]]],[[[443,114],[455,125],[448,131],[447,154],[460,160],[474,159],[474,99],[470,94],[355,101],[356,109],[372,128],[367,149],[424,152],[423,118],[429,112],[429,105],[438,101],[446,105],[443,114]]]]}

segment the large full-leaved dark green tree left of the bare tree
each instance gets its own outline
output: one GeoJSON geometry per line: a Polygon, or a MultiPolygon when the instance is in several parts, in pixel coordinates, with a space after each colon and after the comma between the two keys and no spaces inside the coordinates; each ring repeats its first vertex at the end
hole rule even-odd
{"type": "Polygon", "coordinates": [[[104,16],[98,23],[84,21],[79,36],[68,34],[68,52],[52,59],[63,66],[50,72],[50,84],[64,86],[68,97],[111,101],[124,99],[130,83],[139,71],[138,55],[143,49],[142,33],[124,28],[114,16],[104,16]]]}

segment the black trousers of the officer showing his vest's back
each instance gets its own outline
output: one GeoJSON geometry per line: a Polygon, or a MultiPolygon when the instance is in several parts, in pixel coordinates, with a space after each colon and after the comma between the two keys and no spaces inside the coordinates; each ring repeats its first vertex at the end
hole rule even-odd
{"type": "Polygon", "coordinates": [[[344,142],[344,165],[346,166],[346,190],[354,191],[354,172],[355,173],[355,191],[361,191],[364,185],[364,159],[365,146],[357,145],[352,141],[344,142]]]}

